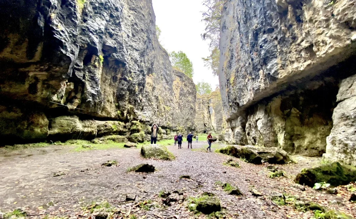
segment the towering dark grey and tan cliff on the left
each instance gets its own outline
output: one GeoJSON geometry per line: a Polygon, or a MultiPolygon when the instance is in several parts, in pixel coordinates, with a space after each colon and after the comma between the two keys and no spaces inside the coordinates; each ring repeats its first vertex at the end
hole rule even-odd
{"type": "Polygon", "coordinates": [[[151,0],[4,0],[0,15],[1,137],[45,139],[68,115],[89,138],[88,119],[194,128],[194,83],[159,45],[151,0]]]}

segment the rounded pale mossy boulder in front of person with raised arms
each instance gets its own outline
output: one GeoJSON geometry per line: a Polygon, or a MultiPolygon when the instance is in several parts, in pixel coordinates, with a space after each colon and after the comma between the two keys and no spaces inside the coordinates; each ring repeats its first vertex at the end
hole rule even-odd
{"type": "Polygon", "coordinates": [[[174,155],[168,151],[166,146],[159,144],[148,144],[141,147],[141,155],[144,158],[161,160],[173,160],[174,155]]]}

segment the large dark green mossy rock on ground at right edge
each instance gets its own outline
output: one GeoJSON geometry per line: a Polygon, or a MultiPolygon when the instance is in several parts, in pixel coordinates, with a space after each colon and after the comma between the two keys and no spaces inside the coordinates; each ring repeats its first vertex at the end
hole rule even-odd
{"type": "Polygon", "coordinates": [[[294,181],[313,187],[317,182],[327,182],[332,186],[347,185],[356,180],[356,168],[339,162],[303,169],[294,181]]]}

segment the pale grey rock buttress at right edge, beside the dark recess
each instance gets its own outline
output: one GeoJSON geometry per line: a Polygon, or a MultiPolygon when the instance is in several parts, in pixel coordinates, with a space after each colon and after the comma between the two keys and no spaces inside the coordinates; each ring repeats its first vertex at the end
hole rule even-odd
{"type": "Polygon", "coordinates": [[[352,76],[340,84],[338,100],[343,100],[334,109],[333,129],[326,138],[325,158],[356,166],[356,94],[352,76]]]}

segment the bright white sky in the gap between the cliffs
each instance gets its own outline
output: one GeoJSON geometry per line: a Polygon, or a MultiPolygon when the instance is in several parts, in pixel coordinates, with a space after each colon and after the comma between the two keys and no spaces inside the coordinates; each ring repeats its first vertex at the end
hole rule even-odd
{"type": "Polygon", "coordinates": [[[194,83],[205,81],[215,90],[219,78],[204,67],[201,58],[210,55],[209,42],[203,41],[204,32],[201,11],[205,10],[202,0],[152,0],[156,14],[156,25],[161,29],[162,46],[170,53],[183,51],[193,62],[194,83]]]}

